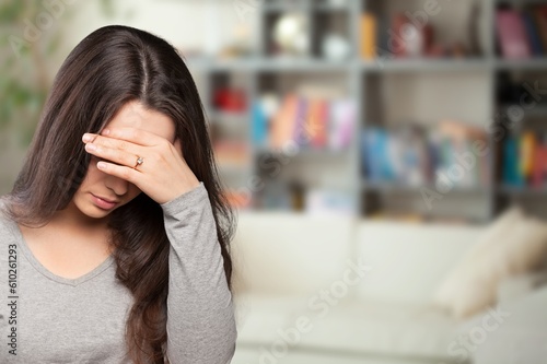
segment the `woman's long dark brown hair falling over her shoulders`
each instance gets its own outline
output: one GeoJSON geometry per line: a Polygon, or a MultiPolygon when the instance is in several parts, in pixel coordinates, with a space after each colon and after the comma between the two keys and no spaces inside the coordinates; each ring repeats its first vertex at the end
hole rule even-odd
{"type": "MultiPolygon", "coordinates": [[[[197,87],[172,45],[137,28],[102,27],[70,52],[55,79],[13,190],[4,196],[9,216],[37,226],[63,210],[91,161],[82,148],[82,134],[100,133],[130,101],[174,120],[185,160],[208,191],[232,290],[230,242],[236,215],[222,192],[197,87]]],[[[126,327],[128,355],[136,364],[164,363],[170,242],[162,208],[140,193],[112,212],[108,227],[116,278],[135,297],[126,327]]]]}

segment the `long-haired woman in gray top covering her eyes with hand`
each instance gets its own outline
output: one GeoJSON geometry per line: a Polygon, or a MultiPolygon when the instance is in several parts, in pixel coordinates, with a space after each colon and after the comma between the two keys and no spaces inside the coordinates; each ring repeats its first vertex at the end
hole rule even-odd
{"type": "Polygon", "coordinates": [[[1,363],[231,361],[234,214],[165,40],[106,26],[73,49],[2,211],[1,363]]]}

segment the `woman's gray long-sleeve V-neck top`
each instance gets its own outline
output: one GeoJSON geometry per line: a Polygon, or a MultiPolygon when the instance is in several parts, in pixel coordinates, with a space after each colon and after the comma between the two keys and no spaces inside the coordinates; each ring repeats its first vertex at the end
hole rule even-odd
{"type": "MultiPolygon", "coordinates": [[[[171,243],[167,357],[172,364],[230,363],[237,336],[233,300],[203,183],[161,207],[171,243]]],[[[109,256],[77,279],[56,275],[0,213],[0,363],[132,364],[125,327],[133,298],[115,270],[109,256]]]]}

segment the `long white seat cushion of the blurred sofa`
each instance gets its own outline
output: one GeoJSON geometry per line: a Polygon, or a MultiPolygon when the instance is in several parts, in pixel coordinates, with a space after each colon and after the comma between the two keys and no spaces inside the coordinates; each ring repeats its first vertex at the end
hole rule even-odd
{"type": "Polygon", "coordinates": [[[304,296],[270,298],[240,296],[249,309],[240,321],[238,345],[263,348],[270,354],[284,343],[298,351],[359,357],[454,360],[447,349],[455,339],[456,322],[432,307],[354,298],[334,305],[317,305],[317,301],[311,305],[311,297],[304,296]]]}

